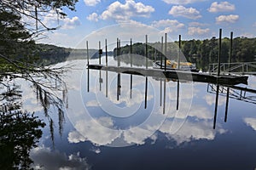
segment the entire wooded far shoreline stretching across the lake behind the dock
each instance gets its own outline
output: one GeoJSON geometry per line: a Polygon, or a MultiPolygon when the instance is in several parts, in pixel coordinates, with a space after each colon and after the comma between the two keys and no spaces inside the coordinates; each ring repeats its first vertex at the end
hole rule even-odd
{"type": "MultiPolygon", "coordinates": [[[[169,45],[167,47],[172,47],[169,45]]],[[[178,42],[174,42],[178,45],[178,42]]],[[[55,45],[37,44],[38,47],[38,63],[43,65],[52,65],[67,59],[86,59],[86,49],[62,48],[55,45]]],[[[195,63],[199,69],[208,70],[208,65],[216,63],[218,60],[218,38],[205,40],[186,40],[182,41],[181,52],[185,59],[195,63]]],[[[130,53],[131,46],[126,44],[120,48],[120,54],[130,53]]],[[[148,58],[160,59],[160,42],[148,43],[148,58]]],[[[167,57],[169,59],[177,58],[177,47],[167,48],[167,57]]],[[[145,43],[137,42],[132,44],[132,54],[145,56],[145,43]]],[[[105,55],[103,51],[102,56],[105,55]]],[[[224,37],[222,39],[221,62],[227,63],[230,55],[230,39],[224,37]]],[[[97,59],[98,49],[89,49],[91,59],[97,59]]],[[[108,51],[108,56],[116,56],[116,48],[108,51]]],[[[123,56],[124,57],[124,56],[123,56]]],[[[127,56],[128,57],[128,56],[127,56]]],[[[256,59],[256,38],[236,37],[233,40],[233,53],[231,62],[253,62],[256,59]]]]}

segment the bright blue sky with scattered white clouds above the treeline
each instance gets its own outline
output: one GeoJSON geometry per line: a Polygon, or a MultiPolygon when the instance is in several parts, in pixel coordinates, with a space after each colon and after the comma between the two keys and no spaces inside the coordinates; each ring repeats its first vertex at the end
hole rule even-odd
{"type": "Polygon", "coordinates": [[[141,29],[141,34],[138,26],[153,26],[172,40],[179,34],[183,39],[218,37],[219,28],[224,37],[230,37],[230,31],[234,37],[256,37],[255,7],[255,0],[80,0],[76,11],[63,9],[66,19],[57,21],[55,14],[42,19],[47,26],[60,28],[40,42],[76,48],[92,32],[124,23],[141,29]]]}

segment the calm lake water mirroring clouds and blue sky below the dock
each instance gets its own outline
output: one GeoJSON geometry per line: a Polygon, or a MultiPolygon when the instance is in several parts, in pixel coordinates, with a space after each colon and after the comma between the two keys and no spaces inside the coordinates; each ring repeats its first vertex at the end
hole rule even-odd
{"type": "MultiPolygon", "coordinates": [[[[230,95],[224,122],[226,97],[220,93],[213,129],[214,86],[110,71],[88,73],[86,60],[66,64],[72,64],[73,71],[65,77],[68,107],[63,132],[58,131],[58,114],[51,114],[54,141],[49,126],[44,127],[30,154],[35,168],[256,168],[256,94],[246,93],[247,101],[230,95]]],[[[248,82],[241,87],[256,88],[256,77],[248,82]]],[[[23,107],[49,124],[31,90],[25,89],[23,107]]],[[[225,93],[226,88],[220,89],[225,93]]]]}

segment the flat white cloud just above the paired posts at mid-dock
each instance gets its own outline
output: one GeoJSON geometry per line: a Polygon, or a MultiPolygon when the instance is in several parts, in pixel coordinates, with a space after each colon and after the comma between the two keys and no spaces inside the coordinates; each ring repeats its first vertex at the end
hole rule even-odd
{"type": "Polygon", "coordinates": [[[151,26],[164,28],[163,32],[166,33],[177,31],[178,29],[185,27],[183,23],[180,23],[177,20],[154,20],[151,26]]]}

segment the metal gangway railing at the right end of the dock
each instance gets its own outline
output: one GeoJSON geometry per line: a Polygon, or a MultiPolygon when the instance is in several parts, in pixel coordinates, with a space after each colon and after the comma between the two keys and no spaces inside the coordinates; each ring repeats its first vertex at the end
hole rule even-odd
{"type": "MultiPolygon", "coordinates": [[[[209,64],[209,73],[216,74],[218,72],[218,63],[209,64]]],[[[256,62],[237,62],[237,63],[221,63],[221,74],[241,74],[256,75],[256,62]]]]}

